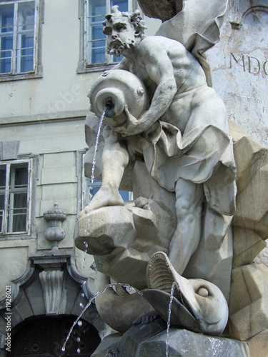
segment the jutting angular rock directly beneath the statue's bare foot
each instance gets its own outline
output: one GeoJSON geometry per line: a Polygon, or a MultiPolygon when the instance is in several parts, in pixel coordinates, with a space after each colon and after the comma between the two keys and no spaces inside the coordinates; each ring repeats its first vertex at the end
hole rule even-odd
{"type": "Polygon", "coordinates": [[[103,207],[76,222],[76,246],[94,255],[96,267],[119,283],[146,288],[147,263],[169,250],[177,220],[147,198],[125,206],[103,207]]]}

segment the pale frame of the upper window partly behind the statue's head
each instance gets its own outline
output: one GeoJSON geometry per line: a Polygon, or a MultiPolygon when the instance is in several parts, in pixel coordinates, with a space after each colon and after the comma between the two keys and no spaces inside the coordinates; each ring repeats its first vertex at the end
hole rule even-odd
{"type": "MultiPolygon", "coordinates": [[[[88,3],[90,0],[79,0],[79,20],[80,20],[80,52],[79,52],[79,64],[77,68],[77,73],[86,73],[86,72],[93,72],[93,71],[105,71],[106,69],[109,69],[113,66],[115,66],[118,62],[111,62],[111,61],[106,61],[105,63],[101,64],[89,64],[87,60],[87,54],[86,54],[86,45],[88,41],[88,36],[89,36],[89,28],[88,28],[88,21],[87,21],[87,16],[88,16],[88,3]]],[[[128,7],[129,11],[134,11],[135,9],[138,9],[138,4],[137,0],[128,0],[128,7]]],[[[111,11],[109,8],[110,0],[106,0],[106,13],[111,11]]],[[[106,40],[105,40],[105,46],[106,46],[106,40]]],[[[105,50],[106,52],[106,50],[105,50]]],[[[106,55],[106,58],[109,58],[110,55],[106,55]]]]}

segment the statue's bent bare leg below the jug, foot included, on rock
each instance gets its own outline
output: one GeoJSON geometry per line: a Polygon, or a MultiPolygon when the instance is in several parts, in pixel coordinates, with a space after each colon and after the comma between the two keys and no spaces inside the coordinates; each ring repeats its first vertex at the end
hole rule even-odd
{"type": "Polygon", "coordinates": [[[123,205],[119,194],[124,169],[129,163],[129,154],[124,141],[119,141],[118,134],[109,126],[104,127],[104,149],[102,153],[102,183],[101,188],[91,199],[84,211],[104,207],[123,205]]]}

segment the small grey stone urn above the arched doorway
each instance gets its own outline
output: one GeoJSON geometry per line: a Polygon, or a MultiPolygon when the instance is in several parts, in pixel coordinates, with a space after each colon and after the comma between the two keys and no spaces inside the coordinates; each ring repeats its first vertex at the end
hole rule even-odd
{"type": "Polygon", "coordinates": [[[54,208],[44,212],[44,218],[49,224],[49,228],[46,228],[44,234],[46,239],[52,242],[51,250],[59,249],[59,241],[61,241],[65,236],[65,232],[64,229],[61,228],[61,224],[65,221],[66,216],[66,212],[58,208],[57,202],[54,203],[54,208]]]}

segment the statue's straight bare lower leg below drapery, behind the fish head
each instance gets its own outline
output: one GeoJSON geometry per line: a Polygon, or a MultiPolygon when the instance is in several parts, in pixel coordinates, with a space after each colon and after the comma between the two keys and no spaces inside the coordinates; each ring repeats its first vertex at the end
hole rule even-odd
{"type": "Polygon", "coordinates": [[[175,193],[178,223],[169,246],[169,259],[182,274],[200,241],[204,189],[202,184],[179,178],[175,193]]]}

